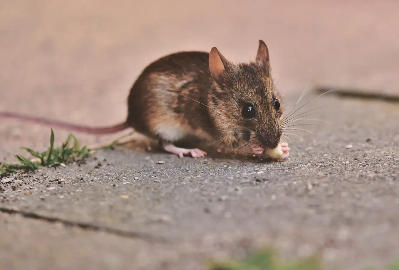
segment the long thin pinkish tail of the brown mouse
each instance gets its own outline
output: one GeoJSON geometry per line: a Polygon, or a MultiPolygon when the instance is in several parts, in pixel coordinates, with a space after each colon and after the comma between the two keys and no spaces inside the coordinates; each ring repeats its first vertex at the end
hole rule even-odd
{"type": "Polygon", "coordinates": [[[67,122],[63,122],[63,121],[46,119],[43,117],[34,117],[34,116],[23,115],[23,114],[19,114],[19,113],[10,113],[10,112],[6,112],[6,111],[0,112],[0,117],[19,119],[22,121],[32,122],[32,123],[36,123],[36,124],[49,125],[52,127],[59,127],[62,129],[69,129],[71,131],[90,133],[90,134],[110,134],[110,133],[122,131],[129,127],[127,121],[124,121],[122,123],[119,123],[117,125],[110,126],[110,127],[89,127],[89,126],[83,126],[83,125],[75,125],[75,124],[71,124],[71,123],[67,123],[67,122]]]}

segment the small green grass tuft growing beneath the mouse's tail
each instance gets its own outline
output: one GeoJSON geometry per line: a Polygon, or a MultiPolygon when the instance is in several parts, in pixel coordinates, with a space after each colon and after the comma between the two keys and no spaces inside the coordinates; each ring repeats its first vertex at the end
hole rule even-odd
{"type": "Polygon", "coordinates": [[[40,153],[28,147],[20,148],[25,149],[36,159],[28,159],[22,155],[15,155],[18,161],[15,163],[2,163],[0,173],[16,173],[20,170],[36,171],[39,167],[65,166],[91,155],[91,150],[86,146],[81,147],[78,139],[72,133],[68,135],[67,139],[60,147],[54,147],[53,129],[51,129],[50,146],[47,151],[40,153]],[[72,139],[73,143],[71,145],[72,139]]]}

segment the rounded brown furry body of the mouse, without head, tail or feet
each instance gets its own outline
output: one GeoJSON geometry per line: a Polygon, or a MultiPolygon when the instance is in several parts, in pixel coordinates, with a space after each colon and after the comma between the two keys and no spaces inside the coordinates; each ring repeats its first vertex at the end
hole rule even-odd
{"type": "Polygon", "coordinates": [[[192,133],[193,127],[211,127],[209,117],[198,115],[198,108],[206,106],[207,92],[214,84],[209,53],[178,52],[164,56],[148,65],[132,85],[128,123],[149,137],[169,141],[182,139],[192,133]]]}

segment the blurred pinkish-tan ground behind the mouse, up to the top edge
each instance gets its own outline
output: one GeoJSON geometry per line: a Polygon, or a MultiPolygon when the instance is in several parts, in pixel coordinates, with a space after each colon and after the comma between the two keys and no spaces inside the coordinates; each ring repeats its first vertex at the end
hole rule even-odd
{"type": "MultiPolygon", "coordinates": [[[[398,12],[395,0],[0,0],[0,109],[114,124],[150,62],[212,46],[231,61],[253,60],[259,39],[288,99],[315,81],[397,93],[398,12]]],[[[3,156],[48,144],[49,127],[0,121],[3,156]]]]}

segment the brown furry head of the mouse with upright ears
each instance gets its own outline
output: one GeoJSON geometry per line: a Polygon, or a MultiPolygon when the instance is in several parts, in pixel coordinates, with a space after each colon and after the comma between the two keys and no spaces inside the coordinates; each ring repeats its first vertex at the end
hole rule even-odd
{"type": "Polygon", "coordinates": [[[213,47],[209,70],[219,86],[210,93],[208,105],[221,140],[277,147],[283,106],[271,77],[265,42],[259,40],[256,60],[247,64],[233,64],[213,47]]]}

